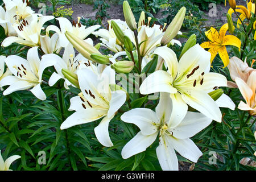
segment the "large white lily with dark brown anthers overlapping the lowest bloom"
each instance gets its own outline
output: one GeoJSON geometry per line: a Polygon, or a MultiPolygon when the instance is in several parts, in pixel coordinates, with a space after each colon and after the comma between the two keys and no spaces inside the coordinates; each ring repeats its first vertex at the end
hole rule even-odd
{"type": "Polygon", "coordinates": [[[208,95],[215,86],[227,86],[225,76],[210,71],[210,53],[196,44],[181,57],[170,48],[159,47],[154,53],[167,63],[168,72],[159,70],[148,76],[141,85],[142,94],[168,92],[180,117],[187,113],[188,106],[221,122],[221,111],[216,102],[208,95]]]}

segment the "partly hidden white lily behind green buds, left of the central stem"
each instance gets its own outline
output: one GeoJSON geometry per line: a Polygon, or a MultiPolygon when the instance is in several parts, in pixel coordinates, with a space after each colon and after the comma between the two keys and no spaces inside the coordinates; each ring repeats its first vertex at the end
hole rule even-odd
{"type": "MultiPolygon", "coordinates": [[[[127,25],[126,22],[120,20],[120,19],[112,19],[115,23],[118,24],[119,28],[122,30],[122,32],[125,31],[131,31],[127,25]]],[[[100,36],[101,45],[108,48],[110,51],[113,51],[115,53],[124,51],[122,43],[117,39],[117,36],[115,36],[115,32],[111,26],[111,21],[108,20],[108,30],[101,28],[100,30],[93,32],[92,34],[96,37],[100,36]]]]}

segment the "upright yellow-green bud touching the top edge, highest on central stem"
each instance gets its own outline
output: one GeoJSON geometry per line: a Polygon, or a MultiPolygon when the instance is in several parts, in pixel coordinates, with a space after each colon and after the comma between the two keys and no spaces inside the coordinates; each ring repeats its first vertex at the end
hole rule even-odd
{"type": "Polygon", "coordinates": [[[129,28],[134,31],[137,30],[137,23],[135,21],[131,7],[127,1],[123,1],[123,16],[125,16],[125,21],[129,28]]]}

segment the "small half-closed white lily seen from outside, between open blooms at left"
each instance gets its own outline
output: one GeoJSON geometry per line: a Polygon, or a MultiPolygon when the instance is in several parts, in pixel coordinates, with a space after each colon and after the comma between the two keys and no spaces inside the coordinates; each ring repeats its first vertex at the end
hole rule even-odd
{"type": "Polygon", "coordinates": [[[59,53],[61,50],[60,47],[60,38],[59,34],[55,33],[51,37],[48,35],[40,35],[40,44],[44,53],[59,53]]]}

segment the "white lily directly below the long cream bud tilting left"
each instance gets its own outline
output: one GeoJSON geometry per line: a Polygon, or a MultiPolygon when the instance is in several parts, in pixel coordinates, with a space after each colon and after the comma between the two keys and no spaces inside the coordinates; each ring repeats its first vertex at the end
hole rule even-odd
{"type": "MultiPolygon", "coordinates": [[[[68,69],[72,73],[76,73],[77,69],[80,69],[80,66],[81,68],[84,68],[92,64],[91,61],[86,59],[80,53],[77,56],[75,56],[75,50],[72,44],[68,44],[68,46],[65,47],[65,51],[62,58],[54,53],[51,53],[48,55],[44,55],[42,60],[43,59],[55,60],[55,63],[56,63],[53,66],[57,73],[55,72],[52,73],[52,76],[49,78],[49,86],[53,86],[54,84],[56,84],[58,80],[63,78],[65,80],[64,86],[66,89],[69,89],[68,86],[72,84],[71,82],[68,81],[67,78],[65,78],[65,76],[61,72],[62,69],[68,69]]],[[[75,85],[72,85],[72,86],[75,86],[75,85]]]]}

